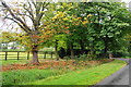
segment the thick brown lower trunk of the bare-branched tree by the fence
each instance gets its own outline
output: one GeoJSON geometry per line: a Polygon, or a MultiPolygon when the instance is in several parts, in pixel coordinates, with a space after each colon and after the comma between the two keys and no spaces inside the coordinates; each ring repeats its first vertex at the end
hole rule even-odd
{"type": "Polygon", "coordinates": [[[32,48],[32,53],[33,53],[33,59],[31,61],[32,64],[39,64],[37,47],[38,46],[33,46],[33,48],[32,48]]]}

